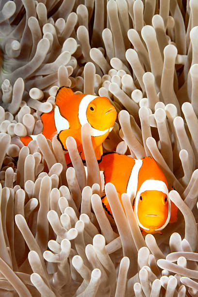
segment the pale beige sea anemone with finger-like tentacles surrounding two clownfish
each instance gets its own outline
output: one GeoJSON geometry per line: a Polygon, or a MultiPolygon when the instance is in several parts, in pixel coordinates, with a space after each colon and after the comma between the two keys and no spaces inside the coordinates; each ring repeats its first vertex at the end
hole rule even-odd
{"type": "Polygon", "coordinates": [[[198,296],[198,1],[0,0],[0,49],[0,296],[198,296]],[[67,169],[40,134],[63,85],[108,97],[104,151],[151,156],[174,186],[162,235],[108,183],[110,225],[88,124],[87,176],[72,137],[67,169]]]}

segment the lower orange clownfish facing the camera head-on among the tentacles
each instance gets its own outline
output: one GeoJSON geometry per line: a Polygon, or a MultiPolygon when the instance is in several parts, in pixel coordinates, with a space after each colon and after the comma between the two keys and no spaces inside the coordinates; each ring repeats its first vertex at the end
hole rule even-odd
{"type": "MultiPolygon", "coordinates": [[[[161,233],[168,223],[177,221],[178,208],[169,198],[165,175],[154,159],[135,160],[118,153],[104,153],[99,169],[103,185],[115,185],[121,204],[121,195],[129,195],[143,235],[161,233]]],[[[107,197],[101,199],[107,214],[113,217],[107,197]]]]}

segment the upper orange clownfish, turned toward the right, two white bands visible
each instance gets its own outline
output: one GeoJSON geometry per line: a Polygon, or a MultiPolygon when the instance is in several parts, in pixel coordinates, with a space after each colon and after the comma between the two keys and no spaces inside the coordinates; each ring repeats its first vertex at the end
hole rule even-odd
{"type": "MultiPolygon", "coordinates": [[[[112,131],[116,116],[115,107],[108,98],[74,94],[70,88],[62,86],[56,93],[55,108],[49,113],[41,114],[42,134],[50,140],[57,137],[65,151],[67,150],[66,138],[72,136],[76,140],[78,151],[84,161],[81,127],[89,123],[92,127],[93,148],[99,161],[103,153],[102,143],[112,131]]],[[[20,137],[20,140],[27,146],[33,140],[33,136],[35,138],[35,135],[20,137]]],[[[70,160],[67,156],[66,161],[67,158],[70,160]]]]}

